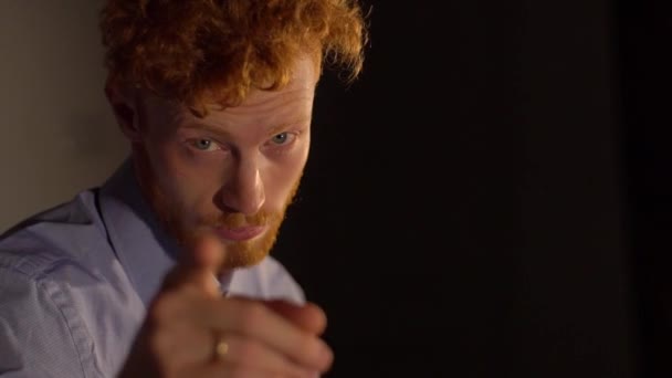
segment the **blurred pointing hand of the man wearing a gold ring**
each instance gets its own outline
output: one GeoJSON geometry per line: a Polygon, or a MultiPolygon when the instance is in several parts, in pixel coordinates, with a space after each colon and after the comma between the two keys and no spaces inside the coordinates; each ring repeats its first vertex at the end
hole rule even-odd
{"type": "Polygon", "coordinates": [[[213,272],[223,256],[203,239],[154,298],[120,378],[318,377],[333,361],[314,304],[222,297],[213,272]],[[218,340],[227,353],[217,357],[218,340]]]}

